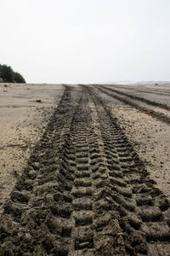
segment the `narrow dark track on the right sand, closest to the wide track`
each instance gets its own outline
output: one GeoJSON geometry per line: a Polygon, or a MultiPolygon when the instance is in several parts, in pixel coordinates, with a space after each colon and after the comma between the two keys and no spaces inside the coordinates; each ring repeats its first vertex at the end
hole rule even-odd
{"type": "Polygon", "coordinates": [[[96,88],[97,88],[99,91],[105,93],[106,95],[111,96],[111,97],[115,98],[116,100],[127,104],[128,106],[131,106],[131,107],[133,107],[133,108],[136,108],[136,109],[138,109],[140,112],[146,113],[147,115],[149,115],[149,116],[151,116],[152,118],[155,118],[155,119],[161,121],[162,123],[166,123],[166,124],[168,124],[168,125],[170,124],[170,118],[169,118],[167,115],[163,114],[163,113],[158,113],[158,112],[156,112],[156,111],[154,111],[154,110],[152,110],[152,109],[149,109],[149,108],[140,107],[137,103],[128,101],[126,98],[123,98],[123,97],[121,97],[121,96],[117,96],[117,95],[115,94],[115,92],[114,92],[114,93],[111,93],[110,91],[103,90],[103,89],[101,89],[99,86],[96,87],[96,88]]]}

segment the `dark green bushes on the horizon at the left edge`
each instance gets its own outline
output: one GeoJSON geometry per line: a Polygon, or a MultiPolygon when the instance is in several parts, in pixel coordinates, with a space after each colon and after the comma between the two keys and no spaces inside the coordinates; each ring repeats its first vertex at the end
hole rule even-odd
{"type": "Polygon", "coordinates": [[[26,80],[20,73],[14,72],[11,67],[0,64],[0,82],[26,83],[26,80]]]}

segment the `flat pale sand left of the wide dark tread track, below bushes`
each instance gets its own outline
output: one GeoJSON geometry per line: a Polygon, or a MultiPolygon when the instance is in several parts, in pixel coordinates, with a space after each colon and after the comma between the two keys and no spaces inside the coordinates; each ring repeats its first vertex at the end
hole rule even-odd
{"type": "Polygon", "coordinates": [[[53,84],[0,84],[0,212],[63,90],[53,84]]]}

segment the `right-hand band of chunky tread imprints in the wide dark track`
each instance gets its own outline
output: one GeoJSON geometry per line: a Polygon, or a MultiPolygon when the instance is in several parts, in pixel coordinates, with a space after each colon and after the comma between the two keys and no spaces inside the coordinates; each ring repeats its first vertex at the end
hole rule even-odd
{"type": "Polygon", "coordinates": [[[169,201],[148,177],[110,109],[94,90],[91,96],[99,115],[110,170],[111,182],[108,185],[115,209],[120,214],[118,219],[124,231],[127,255],[168,255],[169,201]]]}

